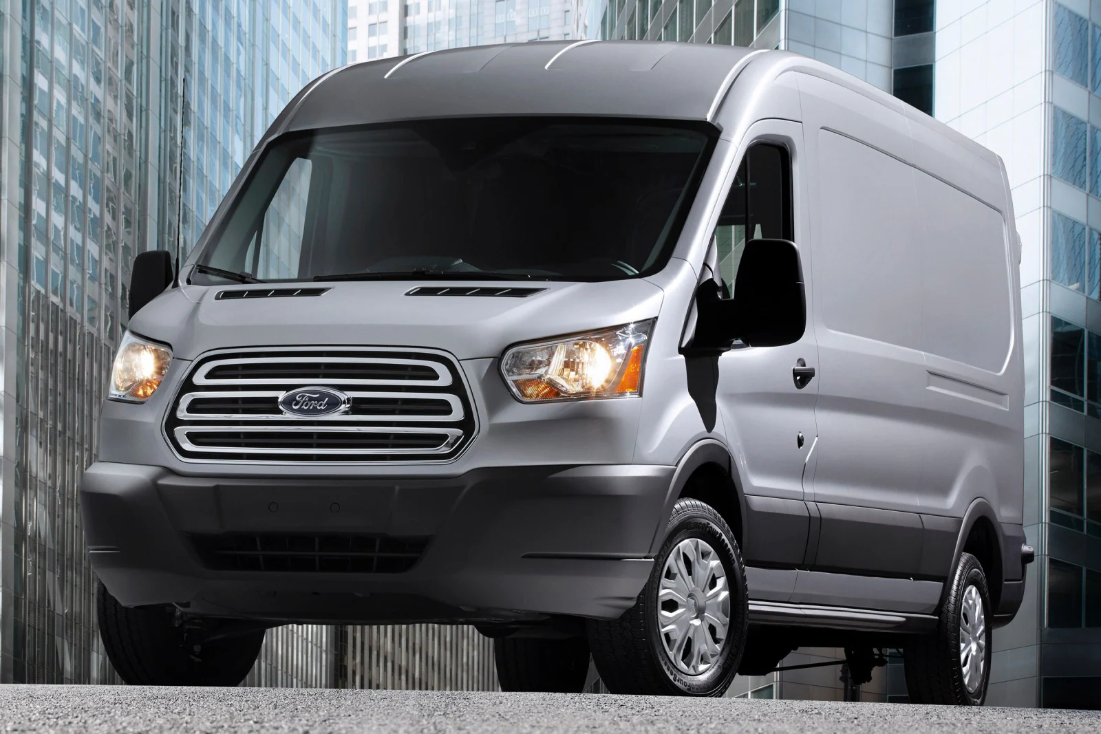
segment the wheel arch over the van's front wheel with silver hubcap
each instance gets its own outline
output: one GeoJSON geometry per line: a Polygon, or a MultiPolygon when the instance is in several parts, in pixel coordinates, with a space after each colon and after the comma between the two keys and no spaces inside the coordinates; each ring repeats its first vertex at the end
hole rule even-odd
{"type": "Polygon", "coordinates": [[[658,551],[664,539],[665,525],[673,515],[673,506],[682,497],[706,502],[718,512],[738,545],[744,538],[745,497],[738,478],[737,464],[724,445],[705,439],[691,446],[677,462],[677,470],[665,496],[662,521],[650,544],[650,555],[658,551]]]}

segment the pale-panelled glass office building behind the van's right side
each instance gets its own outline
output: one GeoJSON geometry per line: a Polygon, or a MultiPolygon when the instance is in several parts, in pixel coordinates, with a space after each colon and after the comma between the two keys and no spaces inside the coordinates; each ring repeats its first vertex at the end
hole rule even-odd
{"type": "MultiPolygon", "coordinates": [[[[1002,157],[1022,239],[1024,523],[1037,560],[1017,618],[994,633],[988,703],[1095,701],[1101,0],[598,0],[589,19],[593,37],[797,51],[891,90],[1002,157]]],[[[785,665],[830,657],[799,650],[785,665]]],[[[818,668],[739,679],[732,694],[775,682],[780,698],[906,700],[895,659],[861,691],[842,677],[818,668]]]]}

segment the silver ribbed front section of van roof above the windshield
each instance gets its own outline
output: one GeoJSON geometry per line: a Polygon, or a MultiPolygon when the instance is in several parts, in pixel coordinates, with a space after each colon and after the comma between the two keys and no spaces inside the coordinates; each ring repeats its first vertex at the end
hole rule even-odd
{"type": "Polygon", "coordinates": [[[473,114],[707,120],[751,53],[713,44],[552,41],[414,54],[321,76],[276,128],[473,114]]]}

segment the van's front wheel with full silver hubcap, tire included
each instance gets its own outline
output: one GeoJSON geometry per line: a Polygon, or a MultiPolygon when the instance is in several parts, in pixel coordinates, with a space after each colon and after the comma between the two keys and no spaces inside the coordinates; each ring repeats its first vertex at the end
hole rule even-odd
{"type": "Polygon", "coordinates": [[[592,661],[613,693],[720,697],[748,627],[745,568],[722,516],[678,500],[634,606],[589,622],[592,661]]]}

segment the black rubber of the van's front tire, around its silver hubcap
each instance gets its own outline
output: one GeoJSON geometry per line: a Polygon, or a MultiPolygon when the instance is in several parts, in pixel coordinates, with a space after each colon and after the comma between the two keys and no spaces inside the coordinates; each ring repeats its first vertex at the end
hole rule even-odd
{"type": "MultiPolygon", "coordinates": [[[[710,583],[710,578],[706,583],[710,583]]],[[[665,540],[654,558],[654,570],[634,606],[619,620],[589,622],[589,647],[601,680],[612,693],[721,697],[738,672],[745,647],[748,599],[742,556],[726,521],[698,500],[678,500],[665,530],[665,540]],[[727,636],[719,645],[719,654],[698,675],[684,672],[674,662],[673,655],[666,653],[657,618],[658,591],[665,578],[666,561],[687,539],[705,540],[713,550],[726,573],[730,602],[727,636]]],[[[697,606],[693,604],[691,610],[697,606]]],[[[713,628],[705,627],[705,634],[711,634],[706,629],[713,628]]],[[[713,634],[711,639],[715,639],[713,634]]]]}

